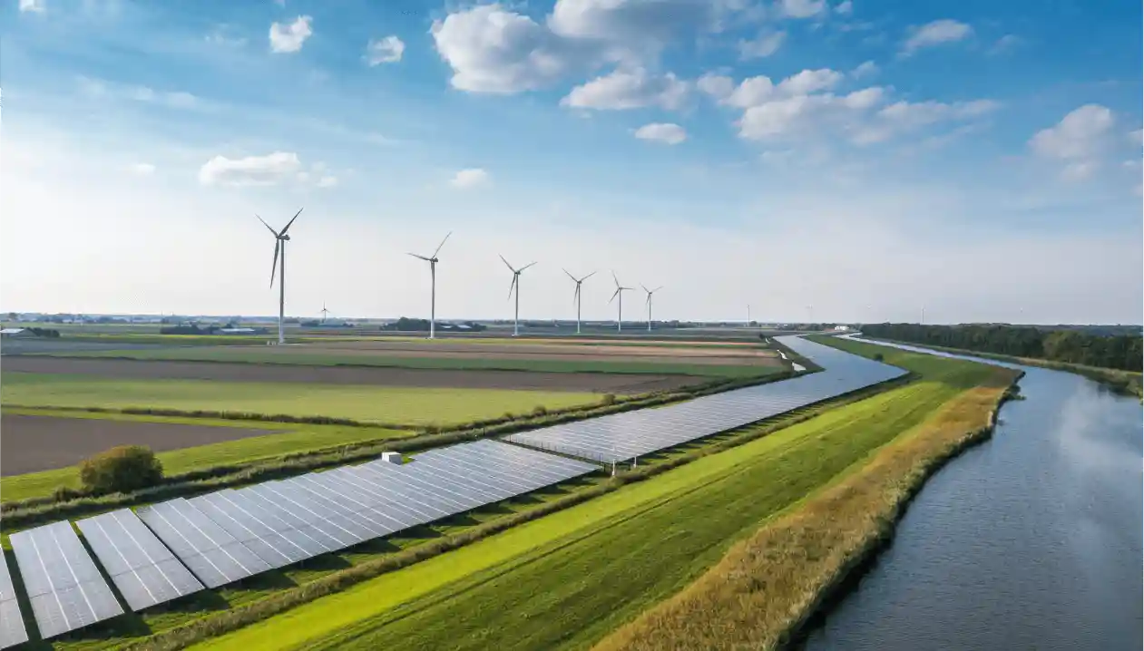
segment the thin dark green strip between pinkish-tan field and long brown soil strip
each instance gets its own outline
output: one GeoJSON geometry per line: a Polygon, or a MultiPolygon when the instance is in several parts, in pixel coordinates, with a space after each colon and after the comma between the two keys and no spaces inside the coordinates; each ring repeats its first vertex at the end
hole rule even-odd
{"type": "Polygon", "coordinates": [[[348,351],[291,347],[199,346],[135,350],[77,350],[43,354],[57,357],[104,357],[183,362],[231,362],[241,364],[295,364],[303,366],[375,366],[384,368],[432,368],[450,371],[531,371],[535,373],[622,373],[697,375],[702,378],[749,378],[782,371],[776,365],[721,365],[667,362],[604,362],[595,359],[500,359],[462,357],[397,357],[382,351],[348,351]]]}

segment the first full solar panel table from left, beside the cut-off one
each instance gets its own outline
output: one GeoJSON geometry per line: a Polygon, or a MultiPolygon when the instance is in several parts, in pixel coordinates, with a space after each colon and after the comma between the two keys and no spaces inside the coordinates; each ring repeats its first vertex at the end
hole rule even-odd
{"type": "Polygon", "coordinates": [[[21,531],[10,540],[45,640],[122,614],[71,523],[21,531]]]}

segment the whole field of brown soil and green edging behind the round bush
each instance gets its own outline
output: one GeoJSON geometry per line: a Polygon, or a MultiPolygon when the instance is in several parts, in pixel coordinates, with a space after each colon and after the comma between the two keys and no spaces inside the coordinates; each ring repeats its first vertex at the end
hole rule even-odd
{"type": "Polygon", "coordinates": [[[3,459],[0,466],[40,466],[37,471],[2,473],[0,502],[42,498],[59,487],[79,486],[79,468],[72,466],[87,454],[113,445],[140,443],[160,451],[167,475],[178,475],[213,466],[246,463],[284,454],[323,450],[355,443],[414,436],[412,430],[328,424],[267,423],[213,419],[133,416],[126,414],[69,413],[6,408],[3,459]],[[29,427],[31,423],[31,427],[29,427]],[[45,424],[49,423],[49,424],[45,424]],[[43,431],[50,426],[48,431],[43,431]],[[188,430],[194,432],[188,437],[188,430]],[[265,434],[272,429],[276,434],[265,434]],[[95,431],[102,446],[84,438],[95,431]],[[184,438],[169,438],[175,432],[184,438]],[[143,436],[143,435],[146,436],[143,436]],[[39,439],[37,437],[42,437],[39,439]],[[207,443],[215,440],[217,443],[207,443]],[[191,445],[177,447],[181,443],[191,445]],[[56,446],[59,444],[59,446],[56,446]],[[166,452],[164,452],[166,451],[166,452]],[[40,463],[35,463],[35,462],[40,463]]]}

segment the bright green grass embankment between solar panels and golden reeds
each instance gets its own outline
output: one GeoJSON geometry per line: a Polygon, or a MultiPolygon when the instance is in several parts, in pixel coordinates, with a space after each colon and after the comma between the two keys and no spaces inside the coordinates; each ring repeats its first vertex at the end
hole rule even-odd
{"type": "Polygon", "coordinates": [[[922,380],[196,649],[588,648],[992,372],[895,360],[922,380]]]}

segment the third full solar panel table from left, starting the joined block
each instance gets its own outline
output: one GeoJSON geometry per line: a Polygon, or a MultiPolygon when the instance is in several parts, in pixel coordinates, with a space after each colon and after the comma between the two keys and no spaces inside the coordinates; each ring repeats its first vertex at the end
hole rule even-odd
{"type": "Polygon", "coordinates": [[[135,513],[207,587],[270,570],[265,561],[182,498],[140,507],[135,513]]]}

